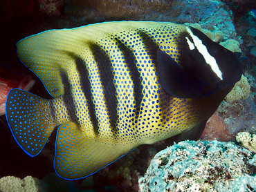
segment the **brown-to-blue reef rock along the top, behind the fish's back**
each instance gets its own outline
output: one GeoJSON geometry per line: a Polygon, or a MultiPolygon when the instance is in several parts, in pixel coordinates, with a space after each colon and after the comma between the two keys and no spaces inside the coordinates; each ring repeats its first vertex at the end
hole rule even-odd
{"type": "Polygon", "coordinates": [[[77,23],[113,20],[200,23],[203,28],[221,30],[224,37],[236,36],[228,8],[221,1],[73,0],[68,1],[65,12],[77,23]]]}

